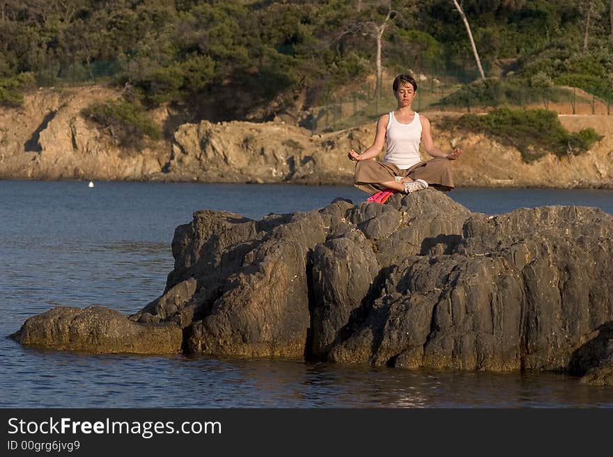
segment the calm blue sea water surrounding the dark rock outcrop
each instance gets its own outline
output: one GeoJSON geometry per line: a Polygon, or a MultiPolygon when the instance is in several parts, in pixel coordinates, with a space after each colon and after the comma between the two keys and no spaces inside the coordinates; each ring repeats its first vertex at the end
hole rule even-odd
{"type": "MultiPolygon", "coordinates": [[[[473,211],[587,205],[613,191],[456,189],[473,211]]],[[[173,267],[174,228],[199,209],[309,211],[346,186],[0,181],[0,335],[58,305],[131,314],[173,267]]],[[[0,407],[613,407],[613,388],[560,374],[402,371],[302,360],[84,355],[0,338],[0,407]]]]}

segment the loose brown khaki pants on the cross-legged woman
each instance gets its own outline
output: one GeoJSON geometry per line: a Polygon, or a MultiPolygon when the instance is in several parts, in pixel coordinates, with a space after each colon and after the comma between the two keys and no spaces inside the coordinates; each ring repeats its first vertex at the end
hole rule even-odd
{"type": "Polygon", "coordinates": [[[451,191],[455,187],[451,175],[451,161],[444,157],[416,163],[406,170],[401,170],[391,162],[361,160],[355,164],[353,184],[361,191],[376,193],[385,189],[385,186],[381,185],[382,182],[394,181],[396,176],[408,176],[413,180],[424,179],[429,186],[440,191],[451,191]]]}

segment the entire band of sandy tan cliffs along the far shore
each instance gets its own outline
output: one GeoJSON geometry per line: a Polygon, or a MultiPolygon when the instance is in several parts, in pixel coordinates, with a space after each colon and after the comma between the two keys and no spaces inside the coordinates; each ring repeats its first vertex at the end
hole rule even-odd
{"type": "MultiPolygon", "coordinates": [[[[355,163],[347,152],[363,151],[375,134],[375,122],[311,135],[283,122],[202,121],[130,151],[80,114],[117,96],[100,87],[38,90],[22,108],[0,109],[0,178],[351,184],[355,163]]],[[[515,147],[451,128],[449,117],[460,113],[426,115],[442,150],[460,145],[465,151],[453,163],[457,186],[613,189],[613,116],[561,116],[568,130],[593,127],[603,139],[580,156],[550,154],[524,163],[515,147]]]]}

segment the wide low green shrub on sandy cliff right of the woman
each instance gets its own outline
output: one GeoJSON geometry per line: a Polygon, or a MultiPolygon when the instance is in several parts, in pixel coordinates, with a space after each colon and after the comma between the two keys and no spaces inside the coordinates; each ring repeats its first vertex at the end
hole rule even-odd
{"type": "Polygon", "coordinates": [[[497,109],[487,115],[465,114],[458,127],[481,131],[520,150],[522,159],[531,162],[545,154],[557,156],[582,154],[602,138],[593,129],[570,134],[557,113],[544,109],[497,109]]]}

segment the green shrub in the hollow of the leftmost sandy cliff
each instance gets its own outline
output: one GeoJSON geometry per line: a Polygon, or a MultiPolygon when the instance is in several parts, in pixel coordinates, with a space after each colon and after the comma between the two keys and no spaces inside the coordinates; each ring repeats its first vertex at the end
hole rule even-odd
{"type": "Polygon", "coordinates": [[[82,114],[108,129],[124,147],[141,147],[145,136],[152,140],[162,138],[160,127],[147,118],[144,109],[123,98],[92,104],[82,114]]]}

